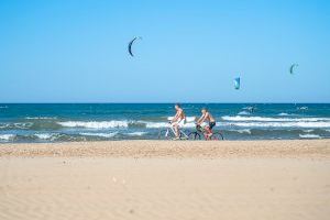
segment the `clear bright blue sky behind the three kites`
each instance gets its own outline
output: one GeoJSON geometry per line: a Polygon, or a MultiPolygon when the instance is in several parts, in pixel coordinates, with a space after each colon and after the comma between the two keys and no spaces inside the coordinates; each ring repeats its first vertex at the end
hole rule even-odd
{"type": "Polygon", "coordinates": [[[0,1],[0,102],[177,101],[330,102],[330,1],[0,1]]]}

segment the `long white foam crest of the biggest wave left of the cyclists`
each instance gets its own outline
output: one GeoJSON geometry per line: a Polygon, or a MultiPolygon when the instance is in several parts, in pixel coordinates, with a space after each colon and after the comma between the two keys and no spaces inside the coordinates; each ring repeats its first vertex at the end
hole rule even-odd
{"type": "Polygon", "coordinates": [[[64,121],[57,123],[62,127],[87,129],[112,129],[129,127],[128,121],[64,121]]]}

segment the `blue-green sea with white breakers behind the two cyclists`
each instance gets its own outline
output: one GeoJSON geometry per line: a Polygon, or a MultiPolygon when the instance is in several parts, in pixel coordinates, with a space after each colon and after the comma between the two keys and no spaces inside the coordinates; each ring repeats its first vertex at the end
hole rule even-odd
{"type": "MultiPolygon", "coordinates": [[[[186,133],[206,107],[226,140],[330,138],[330,103],[183,103],[186,133]]],[[[0,103],[0,143],[156,140],[173,103],[0,103]]]]}

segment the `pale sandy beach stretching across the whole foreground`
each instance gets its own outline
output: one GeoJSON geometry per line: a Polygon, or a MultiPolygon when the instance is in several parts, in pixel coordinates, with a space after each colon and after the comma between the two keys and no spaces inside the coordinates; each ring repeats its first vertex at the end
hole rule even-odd
{"type": "Polygon", "coordinates": [[[0,219],[329,219],[330,140],[0,145],[0,219]]]}

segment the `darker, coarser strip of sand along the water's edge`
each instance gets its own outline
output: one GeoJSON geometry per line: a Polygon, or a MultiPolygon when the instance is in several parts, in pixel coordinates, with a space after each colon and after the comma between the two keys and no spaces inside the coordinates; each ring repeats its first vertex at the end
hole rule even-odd
{"type": "Polygon", "coordinates": [[[330,140],[4,143],[1,157],[330,158],[330,140]]]}

